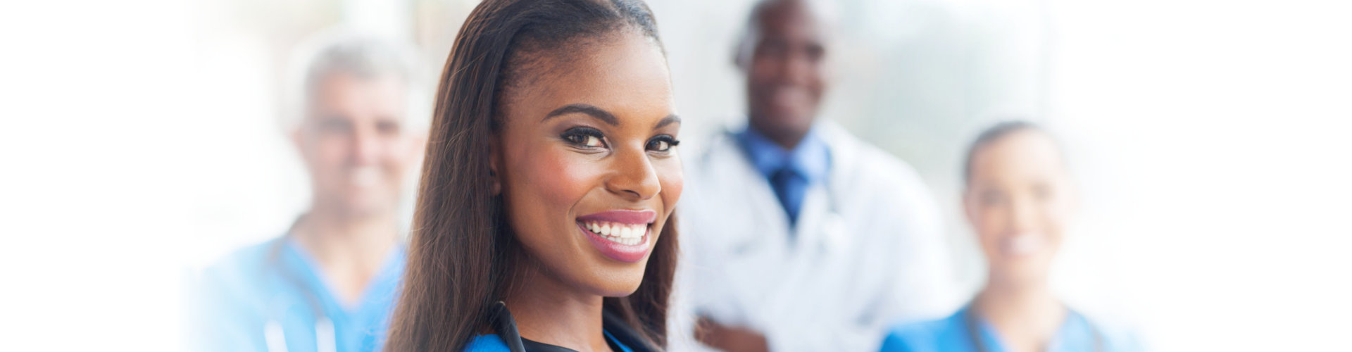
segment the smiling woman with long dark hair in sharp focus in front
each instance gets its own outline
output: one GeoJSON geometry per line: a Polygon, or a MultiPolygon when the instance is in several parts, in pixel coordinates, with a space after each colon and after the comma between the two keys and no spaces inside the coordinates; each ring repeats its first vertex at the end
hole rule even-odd
{"type": "Polygon", "coordinates": [[[665,344],[681,192],[635,0],[488,0],[441,77],[387,351],[665,344]]]}

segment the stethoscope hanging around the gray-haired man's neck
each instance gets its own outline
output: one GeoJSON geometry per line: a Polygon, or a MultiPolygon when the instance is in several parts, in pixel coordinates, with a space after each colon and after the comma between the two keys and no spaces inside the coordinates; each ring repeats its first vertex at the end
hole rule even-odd
{"type": "MultiPolygon", "coordinates": [[[[299,222],[299,221],[297,221],[299,222]]],[[[295,227],[295,225],[292,225],[295,227]]],[[[273,267],[281,272],[281,276],[292,286],[300,290],[306,296],[306,303],[308,303],[310,310],[315,313],[315,351],[318,352],[337,352],[338,351],[338,334],[334,332],[334,322],[329,320],[324,314],[323,305],[319,303],[319,295],[314,290],[306,286],[304,280],[300,279],[295,271],[288,269],[287,265],[281,264],[281,252],[287,246],[287,241],[291,238],[291,230],[287,232],[281,238],[274,240],[272,246],[268,249],[268,257],[265,259],[264,268],[273,267]]],[[[281,325],[281,320],[277,314],[272,311],[285,311],[270,310],[270,305],[279,299],[279,295],[273,296],[269,302],[269,318],[262,325],[262,337],[268,344],[268,352],[287,352],[287,334],[281,325]]]]}

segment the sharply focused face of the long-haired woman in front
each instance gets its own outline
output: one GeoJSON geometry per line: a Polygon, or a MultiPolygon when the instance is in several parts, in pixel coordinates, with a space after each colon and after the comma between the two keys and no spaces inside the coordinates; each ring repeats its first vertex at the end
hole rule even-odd
{"type": "Polygon", "coordinates": [[[493,168],[530,260],[604,296],[638,288],[681,192],[680,120],[658,46],[638,34],[538,56],[500,97],[493,168]]]}

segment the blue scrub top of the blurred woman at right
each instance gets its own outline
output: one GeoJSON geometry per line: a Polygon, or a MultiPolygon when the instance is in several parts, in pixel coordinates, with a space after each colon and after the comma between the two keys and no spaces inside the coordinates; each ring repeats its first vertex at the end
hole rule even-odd
{"type": "MultiPolygon", "coordinates": [[[[971,333],[967,330],[967,311],[969,307],[971,306],[965,306],[957,313],[953,313],[953,315],[942,320],[892,326],[887,333],[887,338],[883,340],[882,352],[977,351],[972,344],[971,333]]],[[[990,324],[979,321],[976,328],[980,330],[979,336],[982,338],[982,344],[986,345],[990,352],[1007,351],[990,324]]],[[[1069,317],[1065,318],[1065,322],[1056,332],[1056,337],[1052,338],[1046,351],[1092,352],[1095,351],[1095,329],[1098,329],[1102,338],[1103,352],[1141,351],[1136,338],[1130,334],[1105,330],[1098,325],[1090,324],[1084,315],[1080,315],[1075,310],[1069,311],[1069,317]]]]}

